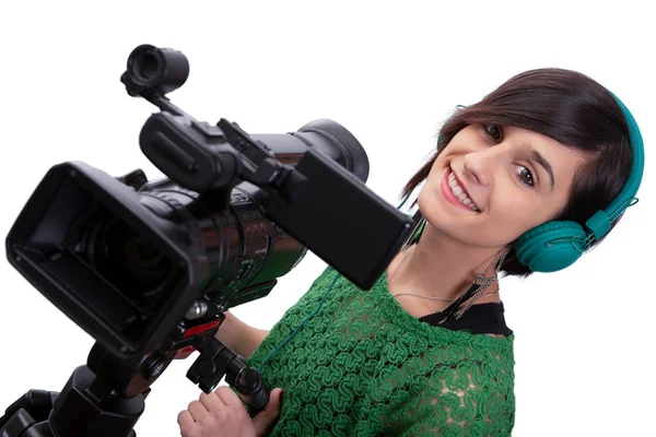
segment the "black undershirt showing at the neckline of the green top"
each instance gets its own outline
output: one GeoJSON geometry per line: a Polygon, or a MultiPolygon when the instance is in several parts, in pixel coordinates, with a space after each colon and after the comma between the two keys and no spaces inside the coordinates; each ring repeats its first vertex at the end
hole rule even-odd
{"type": "Polygon", "coordinates": [[[424,316],[419,321],[454,331],[469,331],[472,334],[511,335],[513,331],[506,327],[503,311],[503,303],[479,304],[472,305],[458,320],[450,317],[440,324],[440,320],[446,316],[444,311],[440,311],[424,316]]]}

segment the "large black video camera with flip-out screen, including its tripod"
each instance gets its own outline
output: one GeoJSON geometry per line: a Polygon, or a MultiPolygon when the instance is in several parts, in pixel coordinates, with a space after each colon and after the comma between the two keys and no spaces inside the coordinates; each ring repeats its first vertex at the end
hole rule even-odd
{"type": "Polygon", "coordinates": [[[150,386],[189,349],[200,356],[187,377],[209,392],[225,376],[254,415],[269,393],[215,339],[223,312],[267,296],[307,250],[368,290],[411,232],[365,186],[366,153],[345,128],[198,121],[166,97],[188,74],[180,51],[141,45],[120,78],[160,108],[139,144],[167,178],[61,163],[11,228],[10,263],[96,343],[61,393],[31,390],[8,408],[0,436],[134,435],[150,386]]]}

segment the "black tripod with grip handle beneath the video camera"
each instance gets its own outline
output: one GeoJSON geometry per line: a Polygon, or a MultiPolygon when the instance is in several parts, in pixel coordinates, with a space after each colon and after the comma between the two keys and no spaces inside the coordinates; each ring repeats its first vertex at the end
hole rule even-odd
{"type": "MultiPolygon", "coordinates": [[[[198,339],[200,356],[187,377],[210,392],[225,381],[248,397],[254,416],[269,401],[259,371],[214,336],[198,339]]],[[[176,351],[120,358],[96,342],[86,365],[73,370],[61,392],[30,390],[0,417],[0,437],[136,437],[132,429],[153,383],[176,351]]]]}

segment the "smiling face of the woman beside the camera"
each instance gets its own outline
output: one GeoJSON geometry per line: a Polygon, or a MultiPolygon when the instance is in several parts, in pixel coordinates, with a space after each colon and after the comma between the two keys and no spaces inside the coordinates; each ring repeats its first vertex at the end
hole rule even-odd
{"type": "Polygon", "coordinates": [[[585,161],[582,152],[541,133],[470,125],[435,160],[418,204],[452,238],[501,248],[565,206],[585,161]]]}

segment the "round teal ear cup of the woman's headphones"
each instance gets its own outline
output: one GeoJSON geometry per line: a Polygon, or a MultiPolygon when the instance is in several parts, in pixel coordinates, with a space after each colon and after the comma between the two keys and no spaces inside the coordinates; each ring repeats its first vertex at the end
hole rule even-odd
{"type": "Polygon", "coordinates": [[[522,235],[515,241],[515,253],[534,272],[555,272],[581,258],[576,244],[586,238],[583,226],[576,222],[547,222],[522,235]]]}

